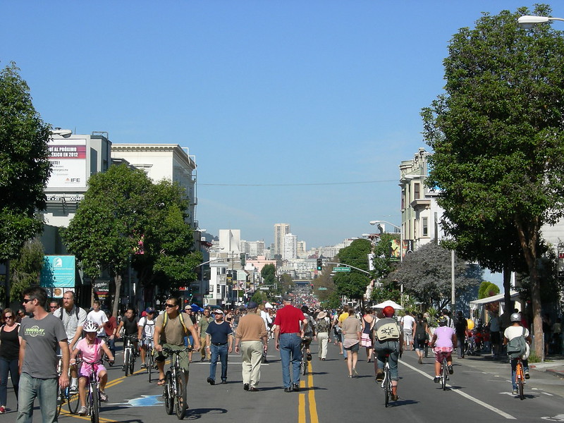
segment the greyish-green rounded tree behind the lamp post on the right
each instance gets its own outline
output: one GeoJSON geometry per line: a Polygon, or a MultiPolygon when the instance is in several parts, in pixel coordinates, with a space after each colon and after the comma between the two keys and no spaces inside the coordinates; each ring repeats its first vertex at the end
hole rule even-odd
{"type": "MultiPolygon", "coordinates": [[[[463,290],[478,286],[480,276],[482,269],[455,260],[455,289],[458,295],[463,290]]],[[[431,305],[442,309],[450,302],[450,251],[435,243],[425,244],[406,255],[391,277],[403,283],[404,290],[422,302],[424,309],[431,305]]]]}

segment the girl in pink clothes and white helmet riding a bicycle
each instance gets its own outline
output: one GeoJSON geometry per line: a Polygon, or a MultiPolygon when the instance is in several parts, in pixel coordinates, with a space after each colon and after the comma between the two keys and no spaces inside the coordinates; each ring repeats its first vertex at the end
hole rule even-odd
{"type": "MultiPolygon", "coordinates": [[[[84,324],[82,330],[85,331],[86,338],[82,338],[76,343],[71,355],[71,362],[73,364],[75,364],[76,356],[79,353],[82,354],[82,360],[84,361],[78,374],[78,396],[80,398],[78,414],[81,416],[88,414],[86,407],[86,384],[92,374],[92,367],[88,363],[97,363],[102,358],[102,352],[106,353],[110,362],[114,362],[114,355],[112,355],[108,345],[102,339],[96,337],[98,325],[89,320],[84,324]]],[[[100,381],[100,400],[106,402],[108,396],[104,392],[104,388],[106,388],[106,382],[108,381],[108,372],[106,372],[106,367],[102,363],[94,364],[94,369],[96,369],[100,381]]]]}

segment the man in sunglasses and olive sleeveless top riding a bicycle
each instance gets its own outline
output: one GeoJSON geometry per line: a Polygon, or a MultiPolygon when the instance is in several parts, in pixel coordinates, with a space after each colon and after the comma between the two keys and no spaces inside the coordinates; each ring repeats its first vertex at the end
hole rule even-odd
{"type": "MultiPolygon", "coordinates": [[[[186,313],[180,312],[178,298],[170,297],[166,300],[163,314],[159,314],[154,323],[154,349],[158,352],[155,357],[159,369],[159,382],[157,385],[164,385],[164,360],[166,357],[162,353],[163,347],[173,350],[182,350],[184,347],[184,337],[192,334],[194,338],[195,350],[200,350],[200,337],[192,319],[186,313]]],[[[188,353],[180,353],[180,367],[184,368],[185,382],[188,384],[188,367],[190,360],[188,353]]]]}

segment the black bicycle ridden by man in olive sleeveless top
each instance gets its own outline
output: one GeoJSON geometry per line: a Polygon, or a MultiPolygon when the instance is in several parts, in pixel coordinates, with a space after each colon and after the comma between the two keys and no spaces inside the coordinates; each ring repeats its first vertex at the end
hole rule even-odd
{"type": "Polygon", "coordinates": [[[164,376],[164,409],[166,414],[171,415],[176,408],[176,417],[182,420],[188,410],[188,377],[185,369],[180,366],[180,353],[190,353],[194,348],[187,347],[178,350],[163,348],[171,360],[171,367],[164,376]]]}

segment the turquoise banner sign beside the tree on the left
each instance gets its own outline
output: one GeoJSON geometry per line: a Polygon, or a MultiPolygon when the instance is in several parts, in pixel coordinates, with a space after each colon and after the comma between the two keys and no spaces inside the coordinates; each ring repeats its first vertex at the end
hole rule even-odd
{"type": "Polygon", "coordinates": [[[41,269],[41,286],[52,298],[63,298],[66,290],[75,288],[75,256],[46,255],[41,269]]]}

